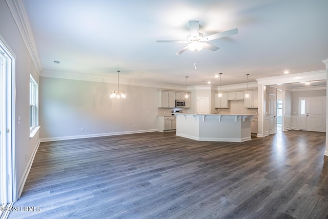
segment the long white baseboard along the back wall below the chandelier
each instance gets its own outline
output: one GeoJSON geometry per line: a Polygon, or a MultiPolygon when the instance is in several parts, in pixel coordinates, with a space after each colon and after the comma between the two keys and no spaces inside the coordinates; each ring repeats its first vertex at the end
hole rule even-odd
{"type": "Polygon", "coordinates": [[[157,129],[148,129],[148,130],[138,130],[138,131],[125,131],[125,132],[110,132],[110,133],[100,133],[100,134],[85,134],[85,135],[72,135],[72,136],[63,136],[63,137],[47,137],[40,138],[40,142],[53,142],[60,140],[71,140],[78,138],[89,138],[89,137],[104,137],[104,136],[112,136],[112,135],[121,135],[121,134],[136,134],[136,133],[144,133],[144,132],[155,132],[157,129]]]}

